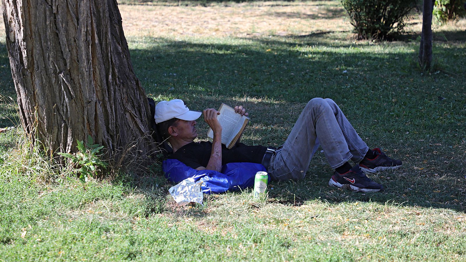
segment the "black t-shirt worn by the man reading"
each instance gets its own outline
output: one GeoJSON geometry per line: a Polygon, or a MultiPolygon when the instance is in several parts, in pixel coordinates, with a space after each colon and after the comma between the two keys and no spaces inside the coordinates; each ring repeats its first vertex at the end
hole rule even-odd
{"type": "MultiPolygon", "coordinates": [[[[231,149],[222,144],[222,165],[236,162],[257,163],[262,162],[267,147],[262,145],[245,145],[236,143],[231,149]]],[[[212,143],[208,141],[191,142],[179,148],[168,156],[169,159],[178,159],[183,164],[194,169],[199,166],[206,167],[212,153],[212,143]]]]}

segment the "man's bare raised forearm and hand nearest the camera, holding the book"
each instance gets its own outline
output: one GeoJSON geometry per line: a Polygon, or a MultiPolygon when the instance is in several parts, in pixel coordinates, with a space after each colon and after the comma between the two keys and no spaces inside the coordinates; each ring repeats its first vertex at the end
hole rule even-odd
{"type": "Polygon", "coordinates": [[[219,111],[208,108],[202,112],[204,114],[204,121],[212,128],[213,141],[212,141],[212,154],[210,155],[207,166],[199,166],[196,170],[214,170],[220,172],[222,169],[222,126],[217,120],[219,111]]]}

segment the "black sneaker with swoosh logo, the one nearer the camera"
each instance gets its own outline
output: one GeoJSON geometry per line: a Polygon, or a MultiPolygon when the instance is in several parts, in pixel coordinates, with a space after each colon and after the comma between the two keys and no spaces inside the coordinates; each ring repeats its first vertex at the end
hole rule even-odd
{"type": "Polygon", "coordinates": [[[351,170],[343,174],[335,171],[335,174],[329,181],[329,186],[349,189],[354,192],[378,192],[384,189],[382,185],[366,177],[361,168],[359,168],[359,165],[353,166],[351,170]]]}

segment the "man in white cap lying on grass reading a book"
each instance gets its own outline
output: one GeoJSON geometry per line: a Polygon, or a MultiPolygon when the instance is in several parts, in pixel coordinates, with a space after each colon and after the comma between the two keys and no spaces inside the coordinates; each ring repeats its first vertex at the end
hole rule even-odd
{"type": "MultiPolygon", "coordinates": [[[[242,106],[236,106],[234,110],[238,114],[248,115],[242,106]]],[[[278,149],[239,142],[227,149],[221,144],[222,127],[217,120],[219,112],[208,108],[202,113],[204,121],[212,128],[212,143],[194,142],[198,136],[196,119],[201,112],[190,111],[183,100],[161,101],[155,110],[158,129],[173,149],[169,158],[178,159],[197,170],[220,172],[224,164],[249,162],[264,165],[273,180],[302,179],[320,145],[330,166],[335,169],[330,186],[355,192],[377,192],[383,186],[366,177],[364,172],[375,173],[401,166],[400,160],[387,157],[379,148],[370,150],[342,110],[329,98],[311,99],[287,140],[278,149]],[[359,164],[351,166],[349,160],[359,164]]]]}

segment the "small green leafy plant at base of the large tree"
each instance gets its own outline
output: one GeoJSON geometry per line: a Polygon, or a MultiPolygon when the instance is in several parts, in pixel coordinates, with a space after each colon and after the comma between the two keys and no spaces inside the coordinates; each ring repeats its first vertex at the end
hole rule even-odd
{"type": "Polygon", "coordinates": [[[84,145],[84,141],[77,141],[78,152],[75,154],[70,153],[58,153],[62,157],[71,159],[73,163],[78,164],[79,169],[76,170],[80,174],[79,179],[82,183],[88,181],[89,177],[93,177],[94,174],[101,171],[101,169],[107,169],[107,163],[100,159],[102,154],[99,154],[103,145],[94,144],[94,140],[88,135],[88,142],[84,145]]]}

